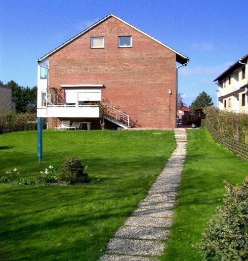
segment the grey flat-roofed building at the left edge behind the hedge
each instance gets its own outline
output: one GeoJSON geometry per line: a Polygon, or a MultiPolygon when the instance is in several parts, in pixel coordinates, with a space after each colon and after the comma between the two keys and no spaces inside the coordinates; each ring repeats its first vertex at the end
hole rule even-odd
{"type": "Polygon", "coordinates": [[[0,83],[0,111],[16,111],[16,98],[12,97],[12,87],[0,83]]]}

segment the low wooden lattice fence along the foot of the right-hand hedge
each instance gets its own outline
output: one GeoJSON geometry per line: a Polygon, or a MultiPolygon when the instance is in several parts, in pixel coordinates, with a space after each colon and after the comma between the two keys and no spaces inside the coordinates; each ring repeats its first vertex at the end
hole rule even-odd
{"type": "Polygon", "coordinates": [[[217,130],[213,126],[211,126],[208,120],[205,121],[205,126],[208,128],[210,134],[217,142],[221,143],[229,150],[236,153],[236,155],[239,156],[240,158],[244,160],[248,160],[247,144],[222,136],[220,133],[217,132],[217,130]]]}

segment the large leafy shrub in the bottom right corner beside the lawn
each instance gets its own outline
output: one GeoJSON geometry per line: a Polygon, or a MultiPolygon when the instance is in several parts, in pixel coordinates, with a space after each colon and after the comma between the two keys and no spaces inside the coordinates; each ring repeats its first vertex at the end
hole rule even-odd
{"type": "Polygon", "coordinates": [[[216,208],[201,243],[193,247],[204,260],[248,260],[248,177],[242,185],[225,183],[224,205],[216,208]]]}

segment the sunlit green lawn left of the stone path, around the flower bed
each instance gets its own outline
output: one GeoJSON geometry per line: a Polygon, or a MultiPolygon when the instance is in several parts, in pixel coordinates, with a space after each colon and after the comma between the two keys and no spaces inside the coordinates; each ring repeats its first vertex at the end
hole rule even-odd
{"type": "Polygon", "coordinates": [[[175,148],[173,132],[44,131],[0,135],[0,171],[36,178],[77,154],[94,181],[84,186],[0,184],[1,260],[97,260],[145,197],[175,148]]]}

